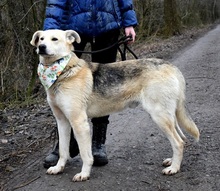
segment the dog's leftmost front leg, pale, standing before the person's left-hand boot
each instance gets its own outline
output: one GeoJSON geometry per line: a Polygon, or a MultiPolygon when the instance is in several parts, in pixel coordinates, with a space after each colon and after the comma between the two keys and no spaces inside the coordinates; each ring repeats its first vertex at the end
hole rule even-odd
{"type": "Polygon", "coordinates": [[[69,158],[69,142],[71,127],[65,115],[58,108],[53,108],[59,134],[59,160],[56,166],[50,167],[47,174],[58,174],[64,170],[69,158]]]}

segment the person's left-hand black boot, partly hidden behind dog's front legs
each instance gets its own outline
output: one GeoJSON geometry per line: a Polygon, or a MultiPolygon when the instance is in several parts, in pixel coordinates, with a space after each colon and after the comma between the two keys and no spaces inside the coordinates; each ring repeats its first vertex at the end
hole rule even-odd
{"type": "MultiPolygon", "coordinates": [[[[79,154],[78,144],[76,139],[74,138],[73,131],[71,130],[70,137],[70,147],[69,147],[70,157],[73,158],[79,154]]],[[[51,166],[55,166],[59,160],[59,141],[54,147],[53,151],[45,158],[44,160],[44,168],[50,168],[51,166]]]]}

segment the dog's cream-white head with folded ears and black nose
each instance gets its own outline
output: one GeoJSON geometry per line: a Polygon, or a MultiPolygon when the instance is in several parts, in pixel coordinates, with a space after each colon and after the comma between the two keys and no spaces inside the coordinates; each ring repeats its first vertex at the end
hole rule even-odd
{"type": "Polygon", "coordinates": [[[37,48],[37,54],[43,59],[56,60],[73,51],[74,41],[81,42],[77,32],[55,29],[35,32],[30,43],[37,48]]]}

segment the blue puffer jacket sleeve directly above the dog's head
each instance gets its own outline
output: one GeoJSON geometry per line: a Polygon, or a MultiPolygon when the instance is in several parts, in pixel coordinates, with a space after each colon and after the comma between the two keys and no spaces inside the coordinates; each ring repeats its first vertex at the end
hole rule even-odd
{"type": "Polygon", "coordinates": [[[62,29],[67,0],[47,0],[44,30],[62,29]]]}

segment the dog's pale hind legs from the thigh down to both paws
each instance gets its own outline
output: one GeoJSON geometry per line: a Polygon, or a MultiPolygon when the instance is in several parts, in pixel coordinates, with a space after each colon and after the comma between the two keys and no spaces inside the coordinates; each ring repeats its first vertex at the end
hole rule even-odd
{"type": "Polygon", "coordinates": [[[180,170],[184,148],[184,142],[175,128],[175,101],[166,100],[167,102],[161,102],[161,99],[160,102],[149,101],[149,99],[145,101],[147,102],[143,104],[144,109],[148,111],[153,121],[165,133],[173,150],[173,157],[163,161],[163,165],[168,167],[162,173],[175,174],[180,170]]]}

